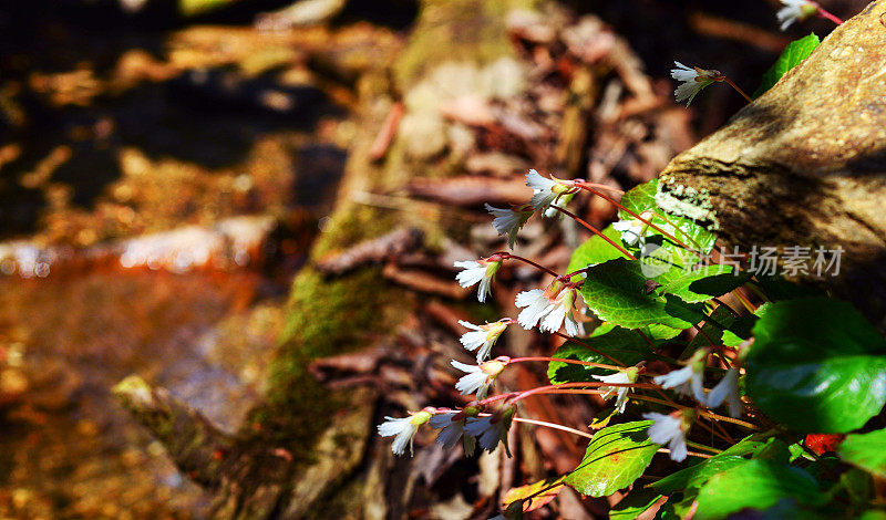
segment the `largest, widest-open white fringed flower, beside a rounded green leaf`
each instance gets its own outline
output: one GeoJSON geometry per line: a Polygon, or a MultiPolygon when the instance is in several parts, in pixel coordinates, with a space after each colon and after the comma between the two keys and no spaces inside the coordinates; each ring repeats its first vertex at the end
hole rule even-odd
{"type": "Polygon", "coordinates": [[[578,321],[574,314],[575,289],[554,282],[547,290],[533,289],[517,294],[516,305],[523,309],[517,322],[529,330],[536,324],[543,332],[557,332],[566,324],[569,335],[578,334],[578,321]]]}

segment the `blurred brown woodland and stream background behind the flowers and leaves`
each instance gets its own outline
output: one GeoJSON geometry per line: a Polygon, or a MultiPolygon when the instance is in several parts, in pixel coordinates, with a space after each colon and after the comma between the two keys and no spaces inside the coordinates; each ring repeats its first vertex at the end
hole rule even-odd
{"type": "MultiPolygon", "coordinates": [[[[714,85],[676,105],[674,60],[752,92],[832,29],[782,33],[777,8],[2,2],[0,518],[488,518],[571,469],[584,448],[550,430],[515,428],[512,459],[431,436],[395,459],[374,425],[463,404],[457,320],[544,281],[506,267],[485,306],[455,284],[453,260],[503,248],[483,204],[526,200],[528,168],[653,178],[744,104],[714,85]]],[[[533,221],[517,252],[562,269],[584,238],[533,221]]],[[[556,346],[511,334],[502,354],[556,346]]],[[[525,414],[585,427],[596,405],[525,414]]],[[[533,514],[608,506],[565,491],[533,514]]]]}

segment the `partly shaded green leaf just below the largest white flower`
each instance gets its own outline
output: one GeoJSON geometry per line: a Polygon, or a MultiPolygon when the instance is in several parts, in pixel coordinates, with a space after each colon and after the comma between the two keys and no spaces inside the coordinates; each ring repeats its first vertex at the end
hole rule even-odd
{"type": "MultiPolygon", "coordinates": [[[[626,366],[635,365],[647,358],[650,354],[649,344],[637,331],[617,326],[605,334],[594,335],[581,340],[588,345],[605,352],[626,366]]],[[[600,355],[585,345],[566,342],[557,349],[554,357],[566,360],[578,360],[590,363],[615,364],[612,360],[600,355]]],[[[547,376],[552,384],[579,383],[593,381],[591,375],[611,374],[612,371],[597,368],[593,366],[576,365],[562,361],[552,361],[547,365],[547,376]]]]}

